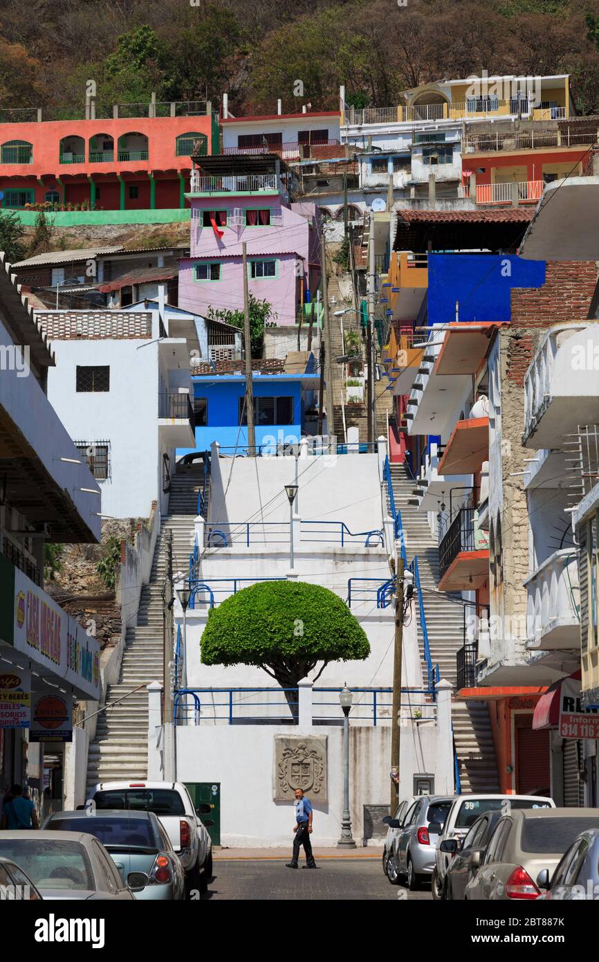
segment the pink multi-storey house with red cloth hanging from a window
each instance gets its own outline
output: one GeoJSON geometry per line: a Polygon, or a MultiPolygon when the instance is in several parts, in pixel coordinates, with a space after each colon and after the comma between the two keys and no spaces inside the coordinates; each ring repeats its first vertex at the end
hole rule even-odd
{"type": "Polygon", "coordinates": [[[314,205],[293,204],[295,175],[274,154],[198,158],[192,172],[190,256],[180,262],[179,304],[196,314],[243,310],[242,245],[248,286],[272,306],[277,325],[295,324],[315,299],[320,241],[314,205]]]}

